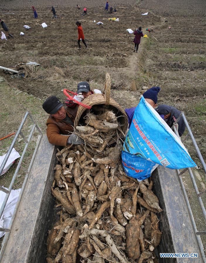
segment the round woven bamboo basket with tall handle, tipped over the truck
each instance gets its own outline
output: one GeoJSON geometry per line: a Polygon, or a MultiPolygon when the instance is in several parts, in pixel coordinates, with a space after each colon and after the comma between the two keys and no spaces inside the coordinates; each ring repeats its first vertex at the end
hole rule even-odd
{"type": "MultiPolygon", "coordinates": [[[[92,94],[88,97],[86,97],[83,100],[83,103],[88,106],[94,106],[98,105],[100,107],[103,107],[105,109],[112,110],[116,116],[118,116],[118,122],[120,123],[121,129],[123,133],[125,134],[128,127],[128,118],[127,114],[125,113],[124,109],[115,102],[114,99],[110,98],[110,77],[109,74],[106,73],[106,83],[105,83],[105,94],[92,94]]],[[[74,121],[74,129],[76,130],[76,126],[78,126],[79,123],[81,125],[84,125],[84,117],[88,114],[88,112],[92,112],[92,108],[90,110],[86,109],[85,107],[79,106],[76,118],[74,121]]],[[[123,135],[119,135],[120,137],[123,137],[123,135]]],[[[111,141],[113,143],[117,139],[118,135],[114,137],[114,140],[111,141]]]]}

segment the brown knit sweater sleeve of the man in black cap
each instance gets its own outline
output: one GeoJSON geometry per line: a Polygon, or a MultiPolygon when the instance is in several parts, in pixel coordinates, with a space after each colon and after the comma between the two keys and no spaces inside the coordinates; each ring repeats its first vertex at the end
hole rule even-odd
{"type": "Polygon", "coordinates": [[[54,145],[67,146],[69,135],[60,134],[59,127],[47,120],[47,138],[54,145]]]}

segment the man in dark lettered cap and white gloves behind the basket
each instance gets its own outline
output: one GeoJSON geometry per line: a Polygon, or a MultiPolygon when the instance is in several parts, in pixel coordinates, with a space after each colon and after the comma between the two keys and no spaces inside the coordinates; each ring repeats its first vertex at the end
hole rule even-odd
{"type": "MultiPolygon", "coordinates": [[[[101,94],[100,90],[95,89],[94,91],[90,89],[90,85],[86,81],[79,82],[77,84],[77,94],[74,95],[73,99],[76,99],[78,102],[82,102],[83,99],[88,97],[91,94],[101,94]]],[[[84,103],[84,102],[83,102],[84,103]]],[[[69,98],[66,99],[65,105],[70,109],[70,112],[73,111],[76,115],[76,112],[78,110],[79,104],[76,104],[73,100],[70,100],[69,98]]]]}

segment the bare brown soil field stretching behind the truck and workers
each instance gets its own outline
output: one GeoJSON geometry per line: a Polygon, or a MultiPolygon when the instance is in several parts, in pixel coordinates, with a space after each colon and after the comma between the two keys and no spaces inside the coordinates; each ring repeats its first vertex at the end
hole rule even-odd
{"type": "MultiPolygon", "coordinates": [[[[110,3],[110,1],[109,1],[110,3]]],[[[30,78],[11,78],[0,72],[1,130],[0,137],[16,131],[26,110],[30,110],[43,133],[46,114],[41,108],[43,100],[56,95],[64,101],[64,88],[76,91],[77,83],[88,81],[91,89],[104,89],[105,73],[111,77],[112,97],[124,108],[136,106],[142,87],[160,86],[159,104],[168,104],[184,111],[203,158],[206,159],[206,58],[205,58],[205,8],[204,0],[142,0],[112,1],[117,13],[104,12],[105,1],[7,1],[1,0],[0,18],[7,24],[13,39],[0,42],[0,65],[13,67],[20,62],[35,61],[41,65],[30,78]],[[51,3],[57,12],[52,19],[51,3]],[[34,19],[34,5],[38,18],[34,19]],[[88,14],[82,16],[84,6],[88,14]],[[147,16],[141,13],[148,12],[147,16]],[[14,13],[14,14],[5,14],[14,13]],[[108,18],[119,18],[119,22],[108,18]],[[82,23],[88,49],[81,43],[77,47],[76,21],[82,23]],[[93,21],[103,22],[96,25],[93,21]],[[167,22],[166,22],[167,21],[167,22]],[[45,22],[48,27],[43,28],[45,22]],[[29,25],[26,30],[23,25],[29,25]],[[142,38],[138,53],[133,53],[134,35],[126,32],[142,26],[151,29],[149,40],[142,38]],[[171,29],[168,29],[171,27],[171,29]],[[24,36],[20,36],[20,32],[24,36]],[[136,91],[132,83],[135,81],[136,91]],[[17,92],[16,92],[17,91],[17,92]],[[19,91],[21,91],[19,93],[19,91]],[[12,120],[12,121],[11,121],[12,120]]],[[[25,130],[30,127],[27,124],[25,130]]],[[[185,138],[187,131],[183,135],[185,138]]],[[[12,141],[1,141],[0,154],[12,141]]],[[[185,146],[196,161],[198,173],[206,183],[191,140],[185,138],[185,146]]],[[[21,142],[17,150],[22,149],[21,142]]],[[[28,154],[28,160],[33,146],[28,154]]],[[[25,163],[25,169],[28,163],[25,163]]],[[[21,187],[24,171],[18,177],[16,188],[21,187]]],[[[188,197],[194,212],[198,230],[205,228],[192,183],[183,175],[188,197]]],[[[0,184],[9,185],[11,174],[0,178],[0,184]]],[[[202,190],[197,180],[199,190],[202,190]]],[[[204,199],[204,202],[206,200],[204,199]]],[[[204,245],[206,240],[202,238],[204,245]]]]}

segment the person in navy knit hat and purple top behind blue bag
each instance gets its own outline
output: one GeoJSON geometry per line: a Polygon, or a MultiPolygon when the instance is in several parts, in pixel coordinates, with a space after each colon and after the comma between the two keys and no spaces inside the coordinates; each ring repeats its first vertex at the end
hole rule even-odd
{"type": "MultiPolygon", "coordinates": [[[[152,106],[152,108],[155,108],[157,106],[157,94],[159,93],[159,91],[160,87],[151,87],[149,90],[145,91],[142,94],[146,102],[148,102],[152,106]]],[[[135,113],[135,109],[136,106],[129,109],[125,109],[125,112],[128,117],[129,128],[132,123],[132,118],[135,113]]]]}

